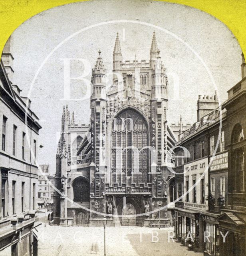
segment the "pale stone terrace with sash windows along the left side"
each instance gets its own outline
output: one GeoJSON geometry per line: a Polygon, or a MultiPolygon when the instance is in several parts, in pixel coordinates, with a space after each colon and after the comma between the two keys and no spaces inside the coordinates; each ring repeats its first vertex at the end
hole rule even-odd
{"type": "Polygon", "coordinates": [[[0,250],[11,249],[12,255],[29,255],[32,250],[36,256],[38,241],[32,228],[38,208],[35,158],[41,126],[31,110],[31,101],[22,97],[20,88],[10,82],[10,40],[0,62],[0,250]]]}

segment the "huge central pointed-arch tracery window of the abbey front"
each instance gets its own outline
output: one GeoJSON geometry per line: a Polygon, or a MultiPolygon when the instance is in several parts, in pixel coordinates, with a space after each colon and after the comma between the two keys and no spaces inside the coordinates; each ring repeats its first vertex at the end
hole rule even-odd
{"type": "Polygon", "coordinates": [[[111,182],[139,184],[147,182],[148,130],[135,110],[121,112],[111,132],[111,182]]]}

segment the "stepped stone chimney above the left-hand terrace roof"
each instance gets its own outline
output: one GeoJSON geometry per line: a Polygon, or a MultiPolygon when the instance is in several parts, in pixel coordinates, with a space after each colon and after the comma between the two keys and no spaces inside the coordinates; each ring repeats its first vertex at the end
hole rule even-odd
{"type": "Polygon", "coordinates": [[[4,49],[2,50],[2,62],[4,64],[4,67],[10,82],[12,82],[11,80],[13,79],[13,74],[14,74],[14,70],[12,68],[14,57],[11,54],[11,50],[12,50],[11,40],[12,38],[10,36],[4,46],[4,49]]]}

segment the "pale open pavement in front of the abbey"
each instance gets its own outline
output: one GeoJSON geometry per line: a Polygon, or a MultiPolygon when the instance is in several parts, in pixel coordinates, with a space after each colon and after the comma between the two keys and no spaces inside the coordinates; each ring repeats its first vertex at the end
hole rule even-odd
{"type": "MultiPolygon", "coordinates": [[[[104,255],[104,230],[96,227],[37,228],[39,256],[104,255]]],[[[106,227],[107,256],[202,256],[169,239],[173,228],[106,227]]]]}

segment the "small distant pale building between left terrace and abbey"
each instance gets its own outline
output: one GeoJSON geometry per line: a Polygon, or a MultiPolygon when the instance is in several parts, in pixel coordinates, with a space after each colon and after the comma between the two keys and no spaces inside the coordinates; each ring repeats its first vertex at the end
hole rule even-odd
{"type": "Polygon", "coordinates": [[[50,174],[48,164],[40,166],[44,175],[38,176],[38,204],[41,206],[44,202],[53,204],[55,175],[50,174]]]}

